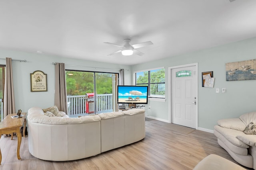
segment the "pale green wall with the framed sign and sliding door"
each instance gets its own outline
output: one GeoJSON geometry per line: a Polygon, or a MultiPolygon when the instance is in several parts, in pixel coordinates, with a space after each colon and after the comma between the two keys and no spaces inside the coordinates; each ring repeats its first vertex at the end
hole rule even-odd
{"type": "MultiPolygon", "coordinates": [[[[22,109],[27,112],[30,107],[50,107],[54,105],[54,63],[65,63],[70,65],[78,66],[90,66],[100,68],[111,68],[111,69],[100,69],[100,68],[89,68],[89,67],[74,67],[66,66],[66,69],[73,70],[90,70],[90,71],[102,71],[102,72],[116,72],[124,68],[125,84],[131,84],[130,66],[102,63],[95,61],[85,61],[79,59],[70,59],[64,57],[56,57],[52,55],[38,55],[34,53],[24,53],[18,51],[9,51],[0,49],[0,58],[10,57],[12,59],[27,60],[26,63],[19,61],[12,61],[13,81],[14,81],[14,95],[15,95],[15,106],[16,110],[22,109]],[[30,73],[35,70],[41,70],[47,74],[47,92],[30,92],[30,73]]],[[[6,64],[5,60],[0,60],[0,64],[6,64]]]]}

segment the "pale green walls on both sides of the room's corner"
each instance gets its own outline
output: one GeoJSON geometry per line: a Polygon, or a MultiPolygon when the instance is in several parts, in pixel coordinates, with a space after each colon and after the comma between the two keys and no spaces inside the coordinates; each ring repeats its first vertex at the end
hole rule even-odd
{"type": "MultiPolygon", "coordinates": [[[[79,66],[95,66],[101,68],[126,69],[125,85],[133,84],[133,72],[149,68],[166,68],[166,102],[149,101],[146,105],[146,114],[162,120],[168,120],[168,67],[183,64],[198,63],[198,127],[213,129],[218,119],[238,117],[239,115],[256,111],[256,80],[226,82],[225,64],[236,61],[256,59],[256,38],[204,49],[176,57],[152,62],[145,62],[134,66],[101,63],[56,57],[52,55],[38,55],[10,50],[0,50],[0,58],[11,57],[12,59],[27,60],[27,63],[13,61],[14,93],[16,110],[28,111],[30,107],[49,107],[54,104],[54,66],[52,62],[66,63],[79,66]],[[48,92],[30,92],[30,73],[42,70],[47,74],[48,92]],[[128,70],[128,71],[127,71],[128,70]],[[201,73],[213,71],[215,77],[214,88],[201,87],[201,73]],[[215,93],[215,88],[227,88],[227,92],[215,93]],[[150,106],[151,109],[147,109],[150,106]]],[[[5,64],[0,60],[0,64],[5,64]]],[[[118,72],[98,68],[66,66],[66,69],[96,70],[103,72],[118,72]]]]}

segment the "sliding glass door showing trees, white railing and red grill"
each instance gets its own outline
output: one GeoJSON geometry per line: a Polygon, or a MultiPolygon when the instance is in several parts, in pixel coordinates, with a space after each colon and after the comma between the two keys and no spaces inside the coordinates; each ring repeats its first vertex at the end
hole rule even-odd
{"type": "Polygon", "coordinates": [[[66,70],[68,115],[116,111],[117,73],[66,70]]]}

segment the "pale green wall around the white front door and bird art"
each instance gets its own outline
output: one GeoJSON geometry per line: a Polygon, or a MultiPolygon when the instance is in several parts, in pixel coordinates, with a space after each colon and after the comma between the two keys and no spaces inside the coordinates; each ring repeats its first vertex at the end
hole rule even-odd
{"type": "Polygon", "coordinates": [[[226,63],[250,59],[256,59],[256,38],[137,64],[132,66],[132,73],[165,67],[166,102],[149,101],[148,106],[150,105],[151,109],[146,109],[146,114],[168,120],[168,67],[198,63],[198,127],[213,130],[218,119],[239,117],[243,113],[256,111],[256,80],[226,81],[226,63]],[[213,71],[214,88],[202,87],[202,72],[206,71],[213,71]],[[215,88],[226,88],[227,92],[216,93],[215,88]]]}

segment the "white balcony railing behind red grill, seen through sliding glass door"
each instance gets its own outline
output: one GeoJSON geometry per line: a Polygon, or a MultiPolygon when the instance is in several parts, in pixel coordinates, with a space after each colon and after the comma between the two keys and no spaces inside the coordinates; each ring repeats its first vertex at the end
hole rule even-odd
{"type": "MultiPolygon", "coordinates": [[[[113,110],[112,94],[96,95],[96,113],[102,113],[113,110]]],[[[67,96],[68,99],[68,115],[86,115],[88,112],[94,111],[94,98],[86,98],[85,96],[67,96]],[[86,105],[86,102],[89,102],[86,105]],[[93,110],[89,106],[93,104],[93,110]]]]}

